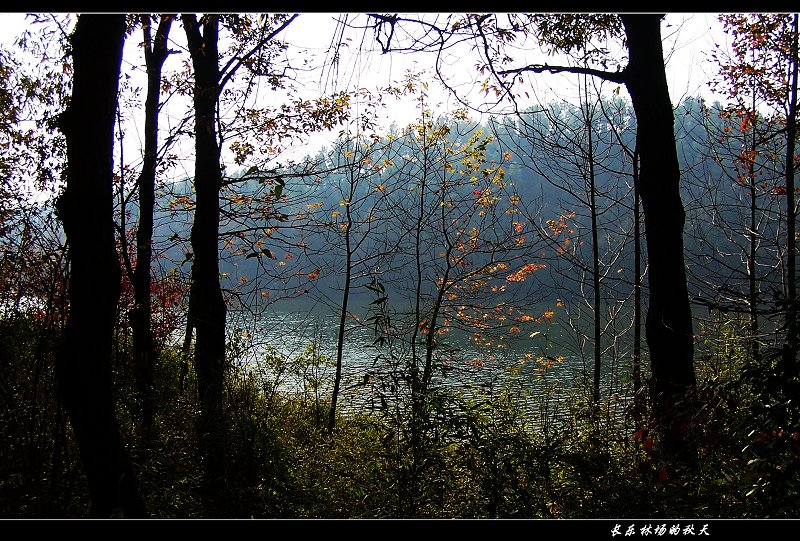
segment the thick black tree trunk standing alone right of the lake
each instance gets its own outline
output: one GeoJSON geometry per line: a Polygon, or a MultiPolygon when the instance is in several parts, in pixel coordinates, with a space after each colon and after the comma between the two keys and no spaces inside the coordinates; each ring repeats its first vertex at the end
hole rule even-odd
{"type": "Polygon", "coordinates": [[[683,257],[685,212],[674,117],[664,71],[660,15],[621,15],[628,42],[625,85],[636,112],[639,196],[644,210],[650,305],[645,334],[650,350],[653,413],[665,450],[682,454],[683,398],[695,390],[692,313],[683,257]]]}

